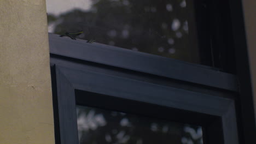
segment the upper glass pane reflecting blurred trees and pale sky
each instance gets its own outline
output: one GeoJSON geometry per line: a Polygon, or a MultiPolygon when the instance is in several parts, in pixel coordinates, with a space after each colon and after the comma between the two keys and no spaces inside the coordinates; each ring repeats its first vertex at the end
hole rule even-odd
{"type": "MultiPolygon", "coordinates": [[[[50,33],[201,62],[192,0],[46,0],[50,33]]],[[[69,37],[63,37],[69,38],[69,37]]]]}

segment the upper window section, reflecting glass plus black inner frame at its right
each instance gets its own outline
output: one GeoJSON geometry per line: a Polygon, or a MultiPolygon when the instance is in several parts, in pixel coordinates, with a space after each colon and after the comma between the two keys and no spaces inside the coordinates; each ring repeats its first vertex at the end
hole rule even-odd
{"type": "Polygon", "coordinates": [[[50,33],[83,31],[77,38],[234,72],[226,2],[55,0],[47,5],[50,33]]]}

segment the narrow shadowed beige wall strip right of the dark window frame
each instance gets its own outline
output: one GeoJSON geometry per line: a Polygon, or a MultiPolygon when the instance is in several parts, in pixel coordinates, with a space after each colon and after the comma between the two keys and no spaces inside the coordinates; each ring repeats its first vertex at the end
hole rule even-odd
{"type": "Polygon", "coordinates": [[[256,1],[243,0],[247,46],[254,94],[254,112],[256,117],[256,1]]]}

